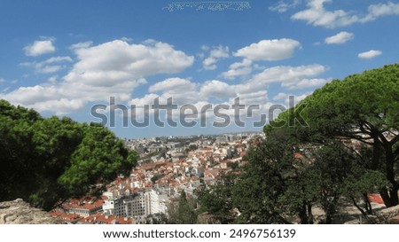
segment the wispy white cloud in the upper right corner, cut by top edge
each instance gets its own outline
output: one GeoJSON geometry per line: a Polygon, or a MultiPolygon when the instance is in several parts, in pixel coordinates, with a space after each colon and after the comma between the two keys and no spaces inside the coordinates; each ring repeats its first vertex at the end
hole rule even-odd
{"type": "Polygon", "coordinates": [[[377,20],[386,15],[398,15],[399,4],[388,2],[387,4],[372,4],[368,12],[363,15],[353,11],[325,9],[325,4],[332,3],[332,0],[309,0],[308,9],[296,12],[291,16],[293,20],[303,20],[308,24],[320,27],[345,27],[354,23],[365,23],[377,20]]]}

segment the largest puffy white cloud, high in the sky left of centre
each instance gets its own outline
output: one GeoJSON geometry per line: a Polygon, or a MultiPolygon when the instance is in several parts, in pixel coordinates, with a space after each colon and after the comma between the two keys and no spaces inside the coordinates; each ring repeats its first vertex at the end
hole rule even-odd
{"type": "Polygon", "coordinates": [[[79,61],[65,76],[66,82],[97,87],[134,83],[153,74],[173,74],[192,66],[194,58],[168,43],[147,41],[129,44],[121,40],[75,50],[79,61]]]}

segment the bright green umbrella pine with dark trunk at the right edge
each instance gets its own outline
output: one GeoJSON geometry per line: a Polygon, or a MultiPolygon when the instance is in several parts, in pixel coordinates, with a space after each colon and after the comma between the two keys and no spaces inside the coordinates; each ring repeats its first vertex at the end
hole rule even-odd
{"type": "Polygon", "coordinates": [[[301,102],[301,110],[281,113],[279,122],[265,127],[293,129],[302,142],[323,144],[335,139],[362,159],[365,169],[385,174],[389,186],[379,192],[387,207],[399,203],[399,65],[383,66],[334,80],[301,102]],[[293,119],[301,115],[304,127],[293,119]],[[291,127],[288,127],[289,124],[291,127]],[[363,152],[367,149],[370,152],[363,152]]]}

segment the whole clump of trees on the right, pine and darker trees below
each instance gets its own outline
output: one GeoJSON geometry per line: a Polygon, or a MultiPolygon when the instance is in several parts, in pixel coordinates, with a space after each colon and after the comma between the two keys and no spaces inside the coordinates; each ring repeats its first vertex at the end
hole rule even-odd
{"type": "Polygon", "coordinates": [[[237,207],[235,222],[312,223],[317,206],[331,223],[340,199],[363,215],[372,214],[369,192],[398,204],[399,65],[334,80],[263,130],[223,193],[231,199],[211,188],[203,207],[237,207]]]}

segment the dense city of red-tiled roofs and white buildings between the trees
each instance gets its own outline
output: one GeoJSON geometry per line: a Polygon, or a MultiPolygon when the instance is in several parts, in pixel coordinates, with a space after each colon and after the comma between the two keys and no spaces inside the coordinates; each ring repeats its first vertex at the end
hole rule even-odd
{"type": "Polygon", "coordinates": [[[243,166],[247,148],[262,132],[199,137],[124,139],[139,155],[129,177],[106,184],[101,197],[68,199],[50,212],[67,223],[153,223],[184,191],[196,196],[201,185],[213,185],[220,174],[243,166]]]}

